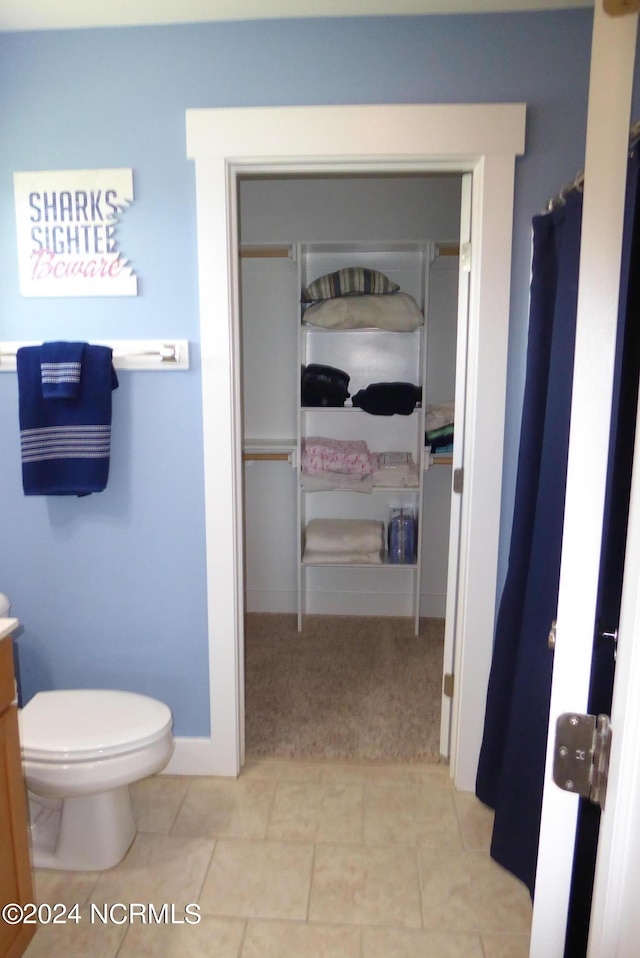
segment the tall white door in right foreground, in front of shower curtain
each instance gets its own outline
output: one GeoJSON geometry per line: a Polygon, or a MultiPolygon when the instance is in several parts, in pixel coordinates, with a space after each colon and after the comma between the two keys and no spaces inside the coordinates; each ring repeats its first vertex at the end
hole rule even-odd
{"type": "MultiPolygon", "coordinates": [[[[564,952],[578,799],[553,784],[552,750],[558,715],[584,712],[587,703],[607,473],[606,456],[596,452],[594,437],[605,441],[611,414],[636,30],[637,17],[610,19],[596,4],[567,498],[531,958],[561,958],[564,952]]],[[[635,485],[638,482],[636,474],[635,485]]],[[[637,527],[638,520],[634,521],[637,527]]],[[[632,528],[630,548],[633,546],[636,550],[637,533],[637,528],[632,528]]],[[[622,634],[622,621],[627,617],[624,603],[626,601],[628,609],[630,602],[628,571],[621,618],[621,652],[626,638],[622,634]]],[[[628,664],[626,658],[625,650],[625,665],[628,664]]],[[[625,712],[634,707],[630,699],[625,701],[628,676],[621,684],[622,666],[623,661],[619,659],[614,696],[621,713],[616,722],[621,725],[625,712]],[[619,693],[622,693],[622,701],[619,693]]],[[[614,730],[614,742],[621,731],[622,728],[614,730]]],[[[620,761],[621,753],[616,754],[614,750],[612,781],[602,820],[602,835],[607,837],[604,841],[601,837],[594,888],[593,914],[598,915],[601,927],[597,932],[595,926],[592,927],[592,958],[631,954],[618,951],[617,946],[600,950],[593,938],[598,934],[604,940],[607,931],[614,937],[618,935],[611,916],[619,901],[616,901],[610,877],[611,865],[620,845],[624,844],[624,840],[618,845],[613,841],[615,829],[611,821],[623,797],[618,787],[620,761]]],[[[637,938],[634,947],[637,954],[637,938]]]]}

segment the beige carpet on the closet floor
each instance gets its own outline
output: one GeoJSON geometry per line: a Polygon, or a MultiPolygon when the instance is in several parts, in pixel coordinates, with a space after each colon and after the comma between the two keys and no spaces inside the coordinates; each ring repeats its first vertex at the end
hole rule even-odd
{"type": "Polygon", "coordinates": [[[247,757],[439,761],[444,621],[250,613],[247,757]]]}

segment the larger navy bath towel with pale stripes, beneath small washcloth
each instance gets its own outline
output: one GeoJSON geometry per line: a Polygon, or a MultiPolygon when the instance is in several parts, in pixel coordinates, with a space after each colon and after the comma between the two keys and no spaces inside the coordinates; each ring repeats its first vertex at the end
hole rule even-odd
{"type": "Polygon", "coordinates": [[[118,378],[108,346],[83,345],[76,399],[45,399],[43,347],[18,350],[22,485],[27,496],[86,496],[107,485],[111,391],[118,378]]]}

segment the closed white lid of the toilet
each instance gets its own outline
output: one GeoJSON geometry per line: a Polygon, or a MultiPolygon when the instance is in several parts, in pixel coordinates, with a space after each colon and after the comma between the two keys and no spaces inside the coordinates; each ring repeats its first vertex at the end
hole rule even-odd
{"type": "Polygon", "coordinates": [[[86,761],[133,751],[171,729],[171,710],[147,695],[107,689],[38,692],[19,712],[25,758],[86,761]]]}

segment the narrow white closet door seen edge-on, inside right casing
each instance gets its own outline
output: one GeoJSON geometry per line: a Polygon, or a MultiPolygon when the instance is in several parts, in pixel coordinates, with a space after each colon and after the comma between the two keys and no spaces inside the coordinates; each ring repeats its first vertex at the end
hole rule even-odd
{"type": "MultiPolygon", "coordinates": [[[[464,421],[467,395],[467,329],[469,324],[469,285],[471,279],[471,189],[473,176],[462,177],[460,197],[460,260],[458,267],[458,321],[456,336],[456,428],[453,440],[452,479],[464,463],[464,421]]],[[[461,474],[461,473],[460,473],[461,474]]],[[[449,519],[449,558],[447,564],[447,604],[444,627],[444,661],[442,667],[442,703],[440,709],[440,754],[449,757],[451,748],[451,706],[453,698],[445,694],[445,676],[455,681],[456,625],[458,609],[458,569],[460,559],[461,493],[456,485],[451,492],[449,519]]],[[[449,689],[447,689],[449,692],[449,689]]]]}

